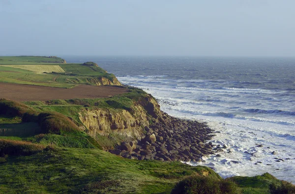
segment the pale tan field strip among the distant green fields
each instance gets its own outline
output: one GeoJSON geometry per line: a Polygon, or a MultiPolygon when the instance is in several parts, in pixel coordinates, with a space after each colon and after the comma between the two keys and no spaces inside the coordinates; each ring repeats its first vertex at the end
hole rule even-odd
{"type": "Polygon", "coordinates": [[[2,65],[4,67],[12,67],[23,70],[28,70],[36,73],[51,73],[60,72],[63,73],[64,70],[59,65],[2,65]]]}

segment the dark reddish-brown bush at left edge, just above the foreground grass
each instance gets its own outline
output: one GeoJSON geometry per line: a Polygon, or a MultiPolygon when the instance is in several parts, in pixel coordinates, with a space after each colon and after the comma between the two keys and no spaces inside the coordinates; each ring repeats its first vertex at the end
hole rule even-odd
{"type": "Polygon", "coordinates": [[[12,155],[30,155],[42,151],[43,145],[31,143],[28,141],[18,141],[11,139],[0,139],[0,156],[12,155]]]}

